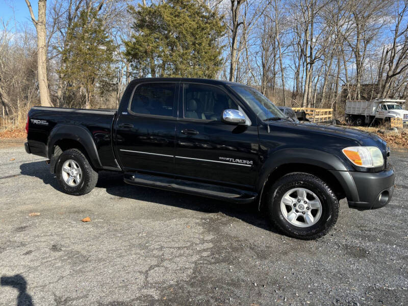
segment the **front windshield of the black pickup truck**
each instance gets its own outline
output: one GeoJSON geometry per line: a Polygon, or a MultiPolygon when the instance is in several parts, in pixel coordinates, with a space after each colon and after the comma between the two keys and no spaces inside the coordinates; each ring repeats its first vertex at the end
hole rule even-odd
{"type": "Polygon", "coordinates": [[[240,85],[233,85],[231,88],[245,100],[245,102],[261,120],[270,118],[286,118],[286,116],[258,90],[240,85]]]}

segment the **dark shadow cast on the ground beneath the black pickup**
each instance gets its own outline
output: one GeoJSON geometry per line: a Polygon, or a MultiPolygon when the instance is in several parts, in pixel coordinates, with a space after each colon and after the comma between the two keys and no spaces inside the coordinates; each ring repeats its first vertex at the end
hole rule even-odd
{"type": "MultiPolygon", "coordinates": [[[[55,175],[49,172],[45,162],[22,164],[20,170],[22,175],[38,177],[44,184],[62,191],[55,175]]],[[[222,213],[275,233],[274,228],[268,224],[263,214],[258,211],[257,203],[235,204],[178,192],[128,185],[123,182],[122,174],[107,171],[99,172],[96,187],[104,188],[107,193],[118,197],[155,202],[202,213],[222,213]]]]}

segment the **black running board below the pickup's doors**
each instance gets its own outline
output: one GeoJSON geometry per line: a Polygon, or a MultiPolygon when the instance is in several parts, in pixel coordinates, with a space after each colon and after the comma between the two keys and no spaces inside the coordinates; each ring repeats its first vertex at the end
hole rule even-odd
{"type": "Polygon", "coordinates": [[[176,180],[169,177],[140,173],[125,173],[123,181],[131,185],[183,192],[233,203],[250,203],[254,201],[258,196],[256,192],[241,190],[237,188],[176,180]]]}

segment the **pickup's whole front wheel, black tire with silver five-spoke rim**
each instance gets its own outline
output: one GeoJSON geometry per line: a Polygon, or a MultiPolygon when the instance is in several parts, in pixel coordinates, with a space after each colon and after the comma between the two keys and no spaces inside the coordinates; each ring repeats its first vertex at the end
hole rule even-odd
{"type": "Polygon", "coordinates": [[[339,201],[330,187],[309,173],[289,173],[267,194],[268,219],[284,234],[298,239],[325,235],[337,221],[339,201]]]}

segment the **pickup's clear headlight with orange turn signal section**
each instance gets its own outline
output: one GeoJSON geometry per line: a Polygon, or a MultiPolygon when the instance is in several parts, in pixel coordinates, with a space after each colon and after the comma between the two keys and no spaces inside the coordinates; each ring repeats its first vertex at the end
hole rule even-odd
{"type": "Polygon", "coordinates": [[[384,165],[381,150],[374,146],[347,147],[343,154],[356,166],[375,168],[384,165]]]}

